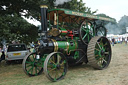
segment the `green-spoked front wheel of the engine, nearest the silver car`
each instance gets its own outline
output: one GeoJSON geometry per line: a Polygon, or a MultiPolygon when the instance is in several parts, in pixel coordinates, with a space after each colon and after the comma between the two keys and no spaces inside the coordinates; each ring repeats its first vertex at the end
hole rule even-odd
{"type": "Polygon", "coordinates": [[[43,72],[44,59],[36,53],[30,53],[25,56],[22,67],[29,76],[37,76],[43,72]]]}

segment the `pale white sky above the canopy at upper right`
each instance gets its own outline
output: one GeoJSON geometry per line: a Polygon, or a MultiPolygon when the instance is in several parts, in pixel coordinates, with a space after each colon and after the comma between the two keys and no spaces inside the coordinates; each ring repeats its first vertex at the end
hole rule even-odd
{"type": "Polygon", "coordinates": [[[128,0],[83,0],[83,2],[92,11],[98,9],[97,14],[104,13],[115,18],[117,22],[122,16],[128,16],[128,0]]]}

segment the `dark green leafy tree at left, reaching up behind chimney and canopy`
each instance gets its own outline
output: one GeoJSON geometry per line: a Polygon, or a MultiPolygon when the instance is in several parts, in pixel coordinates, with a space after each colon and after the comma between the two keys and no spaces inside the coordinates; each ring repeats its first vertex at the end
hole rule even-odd
{"type": "MultiPolygon", "coordinates": [[[[56,0],[1,0],[0,1],[0,40],[20,40],[28,43],[37,38],[37,27],[25,21],[26,18],[35,18],[39,21],[40,5],[46,4],[49,9],[55,7],[56,0]],[[34,34],[33,34],[34,33],[34,34]]],[[[86,13],[95,13],[91,8],[85,7],[82,0],[70,0],[67,3],[58,5],[65,8],[86,13]]]]}

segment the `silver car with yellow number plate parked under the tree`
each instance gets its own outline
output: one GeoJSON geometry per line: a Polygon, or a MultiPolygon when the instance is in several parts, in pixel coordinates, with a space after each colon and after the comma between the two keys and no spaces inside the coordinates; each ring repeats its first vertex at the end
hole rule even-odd
{"type": "Polygon", "coordinates": [[[11,61],[23,60],[24,57],[29,53],[25,44],[9,44],[7,47],[7,53],[5,60],[7,63],[11,61]]]}

